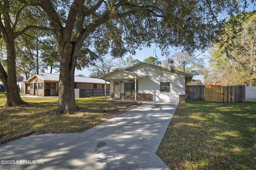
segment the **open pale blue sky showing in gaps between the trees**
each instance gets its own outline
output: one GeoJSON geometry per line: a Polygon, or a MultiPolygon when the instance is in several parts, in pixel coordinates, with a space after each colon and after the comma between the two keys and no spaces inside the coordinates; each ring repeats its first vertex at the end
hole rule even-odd
{"type": "MultiPolygon", "coordinates": [[[[249,3],[249,6],[246,11],[253,11],[256,9],[256,6],[253,3],[250,3],[250,2],[248,2],[248,3],[249,3]]],[[[225,15],[223,14],[223,16],[220,16],[220,17],[225,17],[225,15]]],[[[173,55],[176,52],[180,52],[180,51],[178,49],[176,50],[176,49],[170,48],[170,55],[173,55]]],[[[125,55],[123,57],[123,59],[126,59],[126,57],[128,57],[129,55],[131,55],[131,54],[125,55]]],[[[209,53],[207,51],[204,53],[197,51],[196,53],[194,53],[194,55],[197,56],[198,58],[201,58],[201,57],[209,55],[209,53]]],[[[150,56],[153,56],[153,57],[157,56],[160,61],[166,60],[166,57],[161,55],[161,50],[159,48],[157,48],[156,45],[152,45],[150,48],[144,47],[142,50],[136,50],[136,55],[132,55],[132,58],[143,61],[144,59],[146,59],[150,56]]],[[[205,59],[205,63],[206,63],[205,66],[207,67],[208,66],[207,59],[205,59]]],[[[83,70],[76,69],[75,75],[78,75],[78,74],[83,74],[84,76],[88,77],[90,75],[90,71],[88,70],[88,68],[83,69],[83,70]]],[[[195,80],[199,79],[199,80],[203,81],[202,76],[194,76],[193,79],[195,79],[195,80]]]]}

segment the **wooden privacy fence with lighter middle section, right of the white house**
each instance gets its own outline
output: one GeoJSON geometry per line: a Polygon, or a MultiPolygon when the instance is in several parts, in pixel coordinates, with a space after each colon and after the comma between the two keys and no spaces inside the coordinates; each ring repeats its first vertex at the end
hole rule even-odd
{"type": "Polygon", "coordinates": [[[210,102],[245,102],[245,86],[187,86],[187,99],[210,102]]]}

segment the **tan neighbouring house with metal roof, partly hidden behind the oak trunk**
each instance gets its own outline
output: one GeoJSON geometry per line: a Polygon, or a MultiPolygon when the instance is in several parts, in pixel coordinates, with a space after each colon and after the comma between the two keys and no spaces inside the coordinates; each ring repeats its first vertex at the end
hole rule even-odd
{"type": "MultiPolygon", "coordinates": [[[[58,96],[59,74],[40,73],[35,74],[25,83],[26,94],[34,96],[58,96]]],[[[74,88],[104,88],[105,81],[98,78],[75,76],[74,88]]],[[[106,88],[110,88],[110,82],[106,82],[106,88]]]]}

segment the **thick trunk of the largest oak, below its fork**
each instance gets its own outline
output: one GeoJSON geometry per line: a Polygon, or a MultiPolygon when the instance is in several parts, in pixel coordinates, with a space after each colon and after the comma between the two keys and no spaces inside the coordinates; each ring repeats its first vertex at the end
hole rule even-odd
{"type": "Polygon", "coordinates": [[[60,50],[59,106],[56,113],[73,113],[79,107],[74,94],[76,56],[72,56],[72,43],[65,43],[60,50]]]}

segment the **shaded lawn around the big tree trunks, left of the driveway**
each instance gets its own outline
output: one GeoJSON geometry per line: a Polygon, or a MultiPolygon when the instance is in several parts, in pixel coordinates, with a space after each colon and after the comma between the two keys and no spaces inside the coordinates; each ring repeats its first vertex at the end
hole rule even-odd
{"type": "Polygon", "coordinates": [[[77,133],[90,129],[107,119],[114,113],[134,102],[104,101],[104,97],[76,98],[81,107],[74,114],[57,115],[58,98],[22,98],[27,104],[17,107],[3,107],[6,96],[0,96],[0,138],[10,137],[26,131],[34,131],[34,135],[46,133],[77,133]]]}

